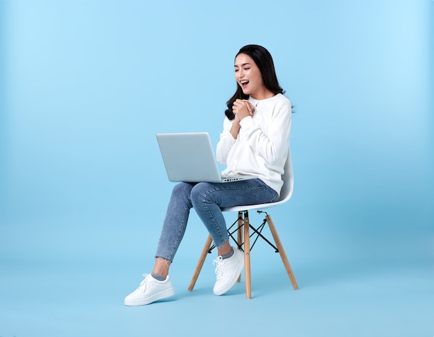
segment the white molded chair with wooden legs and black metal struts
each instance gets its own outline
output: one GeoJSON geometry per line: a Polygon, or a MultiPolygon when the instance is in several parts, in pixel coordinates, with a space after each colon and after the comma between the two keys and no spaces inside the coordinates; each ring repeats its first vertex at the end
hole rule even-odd
{"type": "MultiPolygon", "coordinates": [[[[237,239],[234,239],[234,241],[238,245],[238,248],[244,251],[245,296],[247,298],[252,297],[252,287],[251,287],[251,277],[250,277],[250,250],[253,248],[254,243],[256,243],[259,237],[261,237],[261,239],[264,239],[268,244],[270,244],[273,248],[275,248],[276,252],[279,252],[281,260],[284,263],[286,273],[288,273],[288,277],[290,279],[291,284],[293,285],[293,288],[298,289],[298,285],[297,282],[295,281],[293,270],[290,267],[288,257],[286,257],[284,247],[281,244],[279,235],[277,234],[276,227],[271,220],[271,216],[269,214],[266,214],[263,223],[256,228],[253,227],[249,221],[248,211],[250,209],[256,209],[258,213],[266,213],[263,212],[262,209],[281,205],[284,202],[287,202],[292,196],[294,178],[293,178],[293,165],[291,162],[290,152],[288,152],[288,159],[286,159],[286,163],[284,166],[284,175],[282,175],[282,180],[284,181],[284,185],[281,189],[280,197],[277,202],[270,202],[270,203],[259,204],[259,205],[227,207],[222,209],[222,211],[238,211],[237,220],[234,222],[234,224],[232,224],[231,227],[228,228],[227,231],[229,233],[229,236],[232,237],[232,239],[234,239],[234,236],[232,236],[232,234],[237,232],[237,239]],[[261,231],[266,223],[268,223],[268,227],[270,228],[270,232],[272,234],[272,237],[277,247],[275,245],[272,245],[272,243],[270,243],[270,241],[268,241],[268,239],[266,239],[266,237],[261,234],[261,231]],[[236,230],[232,230],[232,227],[234,225],[237,225],[236,230]],[[252,234],[250,234],[250,229],[253,230],[252,234]],[[243,234],[244,234],[244,242],[243,242],[243,234]],[[257,235],[257,237],[254,240],[253,244],[250,245],[250,238],[255,234],[257,235]]],[[[214,249],[214,245],[211,244],[212,244],[212,239],[211,236],[209,235],[205,243],[205,246],[202,250],[202,254],[200,254],[200,259],[198,261],[196,269],[194,270],[193,277],[191,278],[189,291],[192,291],[196,284],[196,281],[200,274],[200,270],[202,270],[203,263],[207,258],[207,254],[210,253],[212,249],[214,249]]],[[[241,275],[240,278],[238,278],[238,282],[240,280],[241,280],[241,275]]]]}

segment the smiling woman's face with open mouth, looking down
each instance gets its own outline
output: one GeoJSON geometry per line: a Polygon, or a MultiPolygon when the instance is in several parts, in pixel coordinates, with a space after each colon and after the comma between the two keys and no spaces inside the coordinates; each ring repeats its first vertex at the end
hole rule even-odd
{"type": "Polygon", "coordinates": [[[243,93],[261,99],[266,87],[263,84],[261,71],[254,60],[247,54],[238,54],[235,58],[234,68],[236,82],[243,89],[243,93]]]}

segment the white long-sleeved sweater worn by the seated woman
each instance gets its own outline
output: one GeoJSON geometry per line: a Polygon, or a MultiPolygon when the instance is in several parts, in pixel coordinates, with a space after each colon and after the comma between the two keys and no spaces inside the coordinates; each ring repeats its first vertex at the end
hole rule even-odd
{"type": "Polygon", "coordinates": [[[253,116],[241,120],[236,139],[229,132],[233,121],[225,118],[217,160],[226,165],[223,175],[254,174],[280,194],[289,150],[291,103],[282,94],[259,101],[250,97],[249,101],[255,108],[253,116]]]}

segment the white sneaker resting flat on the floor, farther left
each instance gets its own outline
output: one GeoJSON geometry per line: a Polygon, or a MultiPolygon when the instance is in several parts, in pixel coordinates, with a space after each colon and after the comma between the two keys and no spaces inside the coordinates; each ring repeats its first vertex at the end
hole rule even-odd
{"type": "Polygon", "coordinates": [[[150,274],[144,274],[144,277],[145,279],[140,283],[139,288],[125,297],[123,304],[128,306],[146,305],[175,294],[168,275],[164,281],[158,281],[150,274]]]}

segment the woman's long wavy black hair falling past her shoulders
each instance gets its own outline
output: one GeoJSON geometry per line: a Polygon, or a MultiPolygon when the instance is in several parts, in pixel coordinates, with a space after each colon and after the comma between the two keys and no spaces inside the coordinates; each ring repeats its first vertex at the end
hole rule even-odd
{"type": "MultiPolygon", "coordinates": [[[[261,71],[263,84],[266,86],[270,92],[273,94],[284,94],[284,89],[282,89],[279,85],[279,81],[277,80],[276,71],[275,71],[275,63],[272,61],[272,57],[270,52],[265,49],[263,46],[258,46],[257,44],[248,44],[247,46],[243,46],[238,53],[236,53],[235,58],[239,54],[249,55],[254,63],[261,71]]],[[[227,110],[225,114],[228,119],[234,119],[235,115],[232,111],[232,105],[238,99],[248,99],[249,95],[243,93],[243,89],[236,83],[236,92],[234,96],[232,96],[229,101],[227,101],[227,110]]]]}

